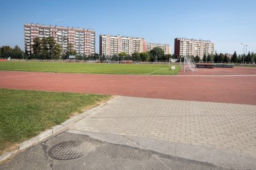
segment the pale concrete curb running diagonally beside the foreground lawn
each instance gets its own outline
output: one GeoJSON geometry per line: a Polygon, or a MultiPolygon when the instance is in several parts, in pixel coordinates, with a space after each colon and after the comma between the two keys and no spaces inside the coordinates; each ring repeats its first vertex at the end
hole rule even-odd
{"type": "Polygon", "coordinates": [[[83,117],[87,116],[88,114],[93,113],[94,111],[98,110],[99,108],[102,108],[104,105],[107,105],[117,99],[119,96],[115,96],[111,100],[102,103],[99,106],[96,106],[95,108],[89,109],[88,111],[85,111],[82,114],[78,114],[77,116],[71,117],[70,119],[66,120],[60,125],[56,125],[50,129],[47,129],[45,131],[42,131],[39,135],[28,139],[27,141],[21,142],[18,144],[18,149],[12,150],[10,152],[3,153],[0,155],[0,162],[6,160],[9,157],[12,157],[12,155],[15,155],[16,153],[20,152],[21,150],[27,149],[30,146],[33,146],[34,144],[37,144],[38,142],[44,140],[45,138],[48,138],[52,135],[55,135],[56,133],[60,133],[61,131],[65,130],[69,125],[74,124],[74,122],[77,122],[78,120],[82,119],[83,117]]]}

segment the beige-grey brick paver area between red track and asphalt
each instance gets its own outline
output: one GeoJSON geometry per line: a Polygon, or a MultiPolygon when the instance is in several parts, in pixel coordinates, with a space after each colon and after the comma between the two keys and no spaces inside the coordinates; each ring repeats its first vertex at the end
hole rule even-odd
{"type": "Polygon", "coordinates": [[[256,106],[118,97],[71,129],[256,154],[256,106]]]}

